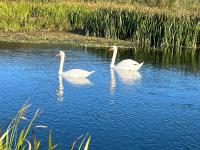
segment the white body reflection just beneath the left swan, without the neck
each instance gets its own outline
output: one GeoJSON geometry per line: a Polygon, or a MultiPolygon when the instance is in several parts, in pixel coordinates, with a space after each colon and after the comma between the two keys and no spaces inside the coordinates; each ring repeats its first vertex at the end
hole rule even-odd
{"type": "Polygon", "coordinates": [[[91,81],[87,78],[64,78],[67,82],[74,84],[74,85],[90,85],[92,84],[91,81]]]}

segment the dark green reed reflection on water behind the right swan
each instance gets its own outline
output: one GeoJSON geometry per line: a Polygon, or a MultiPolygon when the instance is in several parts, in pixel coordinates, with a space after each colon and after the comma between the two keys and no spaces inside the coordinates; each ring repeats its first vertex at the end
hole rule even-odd
{"type": "MultiPolygon", "coordinates": [[[[108,48],[97,48],[90,53],[95,53],[110,61],[112,53],[108,48]]],[[[144,64],[152,64],[166,69],[174,68],[183,72],[200,72],[200,51],[193,49],[176,50],[171,48],[150,49],[144,47],[120,49],[117,54],[117,62],[123,59],[134,59],[144,64]]]]}

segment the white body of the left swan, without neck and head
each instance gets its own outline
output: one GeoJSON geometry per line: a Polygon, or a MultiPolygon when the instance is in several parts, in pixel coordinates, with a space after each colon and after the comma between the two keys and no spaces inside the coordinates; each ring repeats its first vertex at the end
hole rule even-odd
{"type": "Polygon", "coordinates": [[[71,69],[71,70],[63,72],[62,76],[72,77],[72,78],[86,78],[93,72],[94,71],[89,72],[87,70],[82,70],[82,69],[71,69]]]}

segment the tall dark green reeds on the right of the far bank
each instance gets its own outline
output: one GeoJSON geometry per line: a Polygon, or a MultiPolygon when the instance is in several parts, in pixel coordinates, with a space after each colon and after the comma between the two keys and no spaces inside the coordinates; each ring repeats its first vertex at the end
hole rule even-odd
{"type": "Polygon", "coordinates": [[[119,38],[151,46],[178,45],[196,47],[199,39],[199,16],[171,16],[100,8],[87,18],[89,35],[119,38]]]}

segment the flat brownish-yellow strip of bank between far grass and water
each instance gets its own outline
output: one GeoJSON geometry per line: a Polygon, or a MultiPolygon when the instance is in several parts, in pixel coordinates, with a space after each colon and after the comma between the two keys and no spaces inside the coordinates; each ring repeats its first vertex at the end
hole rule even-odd
{"type": "Polygon", "coordinates": [[[137,43],[119,39],[97,38],[72,32],[0,32],[1,42],[66,44],[87,47],[134,47],[137,43]]]}

